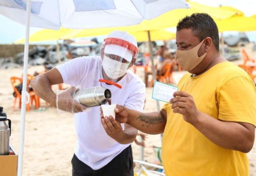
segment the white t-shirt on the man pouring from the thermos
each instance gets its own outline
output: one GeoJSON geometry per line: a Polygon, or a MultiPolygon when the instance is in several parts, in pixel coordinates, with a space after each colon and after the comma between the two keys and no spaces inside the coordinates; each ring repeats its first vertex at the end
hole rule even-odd
{"type": "MultiPolygon", "coordinates": [[[[142,111],[145,100],[145,84],[132,71],[116,86],[98,82],[102,79],[102,60],[100,56],[87,56],[70,60],[56,66],[65,84],[81,86],[81,89],[103,86],[111,91],[111,102],[142,111]]],[[[77,135],[75,154],[79,160],[98,170],[108,164],[130,144],[119,144],[106,134],[100,122],[100,106],[91,107],[89,112],[74,114],[77,135]]],[[[124,124],[121,124],[124,129],[124,124]]]]}

